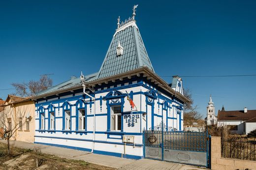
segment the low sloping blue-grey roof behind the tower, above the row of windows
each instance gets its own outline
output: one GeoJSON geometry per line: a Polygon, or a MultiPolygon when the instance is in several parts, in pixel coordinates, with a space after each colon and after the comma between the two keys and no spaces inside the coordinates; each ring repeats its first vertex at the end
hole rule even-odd
{"type": "MultiPolygon", "coordinates": [[[[84,79],[86,82],[93,81],[96,79],[97,74],[98,73],[96,72],[96,73],[87,75],[84,77],[84,79]]],[[[71,87],[76,87],[76,86],[82,86],[80,77],[76,78],[75,76],[72,76],[70,80],[67,80],[59,85],[52,86],[46,90],[40,91],[40,92],[36,93],[35,96],[42,95],[42,94],[48,94],[48,93],[55,92],[55,91],[58,92],[58,91],[61,91],[61,90],[67,89],[67,88],[71,88],[71,87]]]]}

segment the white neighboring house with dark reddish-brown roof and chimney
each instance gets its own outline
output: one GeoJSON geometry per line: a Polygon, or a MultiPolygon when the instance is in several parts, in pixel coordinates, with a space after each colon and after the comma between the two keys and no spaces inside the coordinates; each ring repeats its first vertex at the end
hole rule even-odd
{"type": "Polygon", "coordinates": [[[218,112],[218,126],[226,125],[233,134],[248,134],[256,129],[256,110],[218,112]]]}

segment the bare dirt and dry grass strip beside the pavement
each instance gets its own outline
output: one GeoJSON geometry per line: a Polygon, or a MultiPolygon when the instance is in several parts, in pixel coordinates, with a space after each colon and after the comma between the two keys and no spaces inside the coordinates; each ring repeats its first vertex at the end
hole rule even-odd
{"type": "Polygon", "coordinates": [[[59,158],[34,150],[11,146],[11,156],[7,156],[7,145],[0,142],[0,170],[114,170],[113,168],[91,164],[85,161],[59,158]],[[39,167],[36,168],[36,155],[39,167]]]}

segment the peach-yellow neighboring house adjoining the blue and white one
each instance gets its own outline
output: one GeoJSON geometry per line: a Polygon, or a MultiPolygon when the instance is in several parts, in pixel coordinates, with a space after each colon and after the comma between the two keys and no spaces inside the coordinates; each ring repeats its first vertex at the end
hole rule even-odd
{"type": "Polygon", "coordinates": [[[11,129],[14,129],[14,131],[17,129],[11,139],[34,142],[34,101],[30,98],[8,95],[3,107],[4,111],[2,113],[6,114],[4,117],[7,118],[5,125],[11,123],[11,129]]]}

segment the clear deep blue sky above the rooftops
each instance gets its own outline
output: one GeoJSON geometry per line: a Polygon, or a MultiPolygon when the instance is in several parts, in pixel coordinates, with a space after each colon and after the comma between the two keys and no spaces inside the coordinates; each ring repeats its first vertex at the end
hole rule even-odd
{"type": "MultiPolygon", "coordinates": [[[[0,89],[13,82],[97,72],[117,27],[131,16],[160,76],[256,74],[256,0],[1,0],[0,89]]],[[[171,78],[163,77],[168,83],[171,78]]],[[[198,111],[256,109],[256,77],[183,78],[198,111]]],[[[14,90],[0,90],[6,98],[14,90]]],[[[217,114],[217,112],[216,112],[217,114]]]]}

